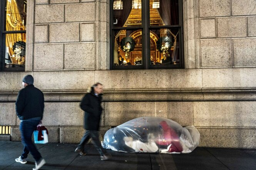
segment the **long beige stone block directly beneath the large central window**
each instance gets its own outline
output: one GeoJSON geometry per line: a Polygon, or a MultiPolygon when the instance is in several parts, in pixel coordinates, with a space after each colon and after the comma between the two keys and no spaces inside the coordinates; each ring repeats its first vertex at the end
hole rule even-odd
{"type": "Polygon", "coordinates": [[[95,71],[95,82],[102,82],[105,89],[201,88],[201,73],[200,69],[95,71]]]}

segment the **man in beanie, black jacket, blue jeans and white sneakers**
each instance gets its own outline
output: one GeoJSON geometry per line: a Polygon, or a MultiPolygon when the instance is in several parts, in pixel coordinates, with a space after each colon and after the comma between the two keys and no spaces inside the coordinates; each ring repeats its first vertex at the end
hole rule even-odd
{"type": "Polygon", "coordinates": [[[35,159],[35,168],[38,170],[45,164],[45,160],[38,152],[32,142],[32,134],[37,125],[43,118],[44,112],[44,94],[35,88],[33,76],[27,75],[22,79],[23,89],[18,92],[16,100],[16,114],[20,119],[20,133],[22,144],[24,145],[23,153],[16,158],[16,162],[27,163],[25,160],[30,152],[35,159]]]}

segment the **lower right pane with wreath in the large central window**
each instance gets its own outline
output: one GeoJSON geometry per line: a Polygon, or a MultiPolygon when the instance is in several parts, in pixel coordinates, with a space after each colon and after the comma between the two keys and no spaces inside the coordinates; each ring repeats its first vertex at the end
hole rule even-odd
{"type": "Polygon", "coordinates": [[[150,31],[150,60],[152,65],[179,64],[178,29],[150,31]]]}

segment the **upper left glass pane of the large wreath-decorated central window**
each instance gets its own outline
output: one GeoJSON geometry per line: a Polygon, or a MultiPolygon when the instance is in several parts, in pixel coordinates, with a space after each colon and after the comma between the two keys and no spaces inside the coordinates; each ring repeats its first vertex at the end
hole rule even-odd
{"type": "Polygon", "coordinates": [[[114,27],[141,26],[141,0],[114,0],[114,27]]]}

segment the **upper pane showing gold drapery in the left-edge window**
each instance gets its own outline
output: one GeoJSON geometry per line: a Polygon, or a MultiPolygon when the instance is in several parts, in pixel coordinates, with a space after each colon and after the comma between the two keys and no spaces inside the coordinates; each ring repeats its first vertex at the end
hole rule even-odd
{"type": "Polygon", "coordinates": [[[26,30],[27,0],[7,0],[6,31],[26,30]]]}

